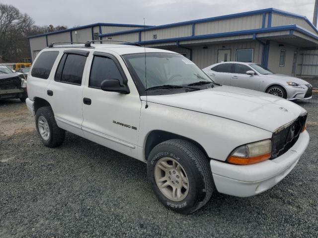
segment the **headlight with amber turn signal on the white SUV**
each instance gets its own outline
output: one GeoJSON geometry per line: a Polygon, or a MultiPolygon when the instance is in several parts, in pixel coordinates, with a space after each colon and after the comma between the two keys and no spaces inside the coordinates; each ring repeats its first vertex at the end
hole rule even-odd
{"type": "Polygon", "coordinates": [[[255,164],[271,157],[272,141],[262,140],[236,148],[228,158],[228,162],[237,165],[255,164]]]}

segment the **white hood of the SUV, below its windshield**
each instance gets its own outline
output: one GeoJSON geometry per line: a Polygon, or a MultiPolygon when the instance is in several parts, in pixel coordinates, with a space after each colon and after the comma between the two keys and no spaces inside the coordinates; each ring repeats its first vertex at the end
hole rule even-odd
{"type": "MultiPolygon", "coordinates": [[[[141,99],[145,101],[146,97],[142,96],[141,99]]],[[[271,132],[306,112],[305,109],[288,100],[231,86],[148,96],[148,102],[232,119],[271,132]]]]}

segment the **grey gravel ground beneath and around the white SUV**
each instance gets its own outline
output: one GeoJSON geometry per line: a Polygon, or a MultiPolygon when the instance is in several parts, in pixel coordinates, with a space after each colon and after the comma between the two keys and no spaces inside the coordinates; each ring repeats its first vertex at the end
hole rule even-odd
{"type": "Polygon", "coordinates": [[[71,133],[54,149],[34,130],[0,134],[0,237],[317,238],[318,94],[299,104],[311,142],[294,170],[257,196],[214,192],[190,215],[159,203],[142,162],[71,133]]]}

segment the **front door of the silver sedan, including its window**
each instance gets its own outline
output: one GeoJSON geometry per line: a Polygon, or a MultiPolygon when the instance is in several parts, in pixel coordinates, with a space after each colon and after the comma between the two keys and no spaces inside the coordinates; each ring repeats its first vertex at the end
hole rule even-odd
{"type": "MultiPolygon", "coordinates": [[[[259,90],[260,77],[258,75],[246,74],[246,71],[252,70],[245,64],[235,63],[234,74],[231,77],[231,86],[259,90]]],[[[252,70],[254,71],[254,70],[252,70]]]]}

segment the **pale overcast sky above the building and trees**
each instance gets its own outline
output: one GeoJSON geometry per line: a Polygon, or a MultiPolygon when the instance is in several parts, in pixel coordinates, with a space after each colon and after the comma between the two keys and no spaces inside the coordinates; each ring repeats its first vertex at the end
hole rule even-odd
{"type": "Polygon", "coordinates": [[[37,25],[97,22],[162,25],[274,7],[313,21],[315,0],[0,0],[29,14],[37,25]]]}

